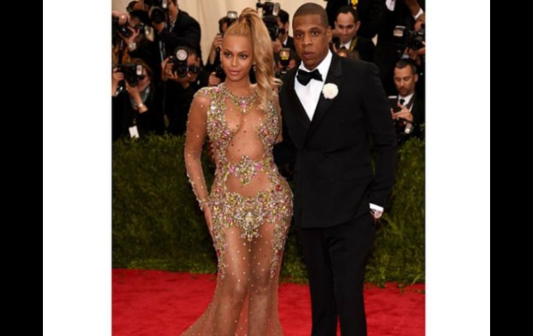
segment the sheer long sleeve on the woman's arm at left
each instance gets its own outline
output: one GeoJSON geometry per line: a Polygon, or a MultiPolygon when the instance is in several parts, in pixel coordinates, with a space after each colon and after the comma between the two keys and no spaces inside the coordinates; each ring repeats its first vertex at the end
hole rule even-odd
{"type": "Polygon", "coordinates": [[[202,210],[204,210],[209,196],[204,170],[201,167],[201,152],[206,137],[207,109],[209,107],[209,98],[203,92],[204,90],[200,90],[190,105],[184,152],[187,177],[202,210]]]}

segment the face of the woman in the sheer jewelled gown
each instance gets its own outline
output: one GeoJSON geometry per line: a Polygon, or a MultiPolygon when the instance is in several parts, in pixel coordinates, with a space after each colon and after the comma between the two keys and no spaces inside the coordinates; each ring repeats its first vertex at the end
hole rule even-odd
{"type": "Polygon", "coordinates": [[[222,68],[226,73],[226,80],[238,82],[248,78],[253,65],[253,47],[249,37],[228,35],[222,41],[220,49],[222,68]]]}

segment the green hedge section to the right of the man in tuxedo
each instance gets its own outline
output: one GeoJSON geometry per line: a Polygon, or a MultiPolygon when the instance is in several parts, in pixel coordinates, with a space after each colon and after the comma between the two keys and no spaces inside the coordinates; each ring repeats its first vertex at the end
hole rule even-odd
{"type": "Polygon", "coordinates": [[[379,221],[367,280],[424,282],[425,144],[412,138],[398,150],[396,183],[388,212],[379,221]]]}

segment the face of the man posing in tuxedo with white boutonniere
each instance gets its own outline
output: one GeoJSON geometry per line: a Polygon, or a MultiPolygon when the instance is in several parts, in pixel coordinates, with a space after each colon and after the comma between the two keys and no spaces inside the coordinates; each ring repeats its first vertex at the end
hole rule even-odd
{"type": "Polygon", "coordinates": [[[292,28],[298,57],[307,69],[315,69],[327,55],[332,28],[324,26],[316,14],[295,17],[292,28]]]}

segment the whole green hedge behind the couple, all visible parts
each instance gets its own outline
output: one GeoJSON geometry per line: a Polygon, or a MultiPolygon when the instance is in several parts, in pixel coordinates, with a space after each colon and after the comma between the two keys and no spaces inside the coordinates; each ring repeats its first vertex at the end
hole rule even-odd
{"type": "MultiPolygon", "coordinates": [[[[208,185],[213,163],[204,155],[208,185]]],[[[148,136],[113,144],[113,267],[215,273],[210,236],[188,184],[183,138],[148,136]]],[[[285,281],[305,282],[291,227],[282,265],[285,281]]],[[[367,280],[424,281],[424,142],[399,150],[392,209],[379,225],[367,280]]]]}

